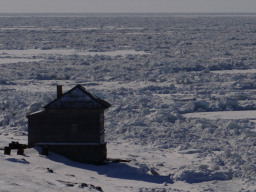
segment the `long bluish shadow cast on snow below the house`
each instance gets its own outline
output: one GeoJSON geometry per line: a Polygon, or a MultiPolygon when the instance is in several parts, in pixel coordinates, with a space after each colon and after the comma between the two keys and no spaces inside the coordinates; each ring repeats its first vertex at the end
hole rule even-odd
{"type": "Polygon", "coordinates": [[[126,162],[114,163],[114,162],[108,162],[108,161],[106,162],[106,164],[102,164],[102,165],[79,163],[79,162],[69,160],[61,155],[58,155],[52,152],[49,153],[48,158],[52,161],[65,164],[70,167],[94,171],[100,175],[105,175],[111,178],[143,181],[143,182],[149,182],[149,183],[155,183],[155,184],[173,183],[170,176],[149,174],[148,173],[149,170],[146,166],[133,167],[126,162]]]}

